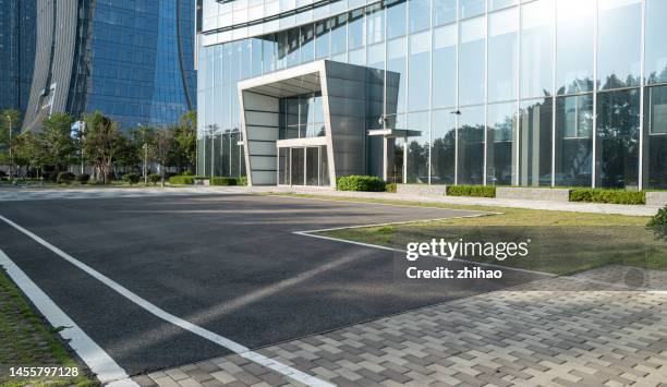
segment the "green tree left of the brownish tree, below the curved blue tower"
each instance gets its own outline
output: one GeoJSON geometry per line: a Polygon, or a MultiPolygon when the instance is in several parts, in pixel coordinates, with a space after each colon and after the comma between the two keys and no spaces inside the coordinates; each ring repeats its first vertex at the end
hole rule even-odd
{"type": "Polygon", "coordinates": [[[38,134],[38,141],[44,144],[46,164],[63,171],[74,161],[76,144],[72,138],[74,119],[68,113],[53,113],[45,119],[44,130],[38,134]]]}

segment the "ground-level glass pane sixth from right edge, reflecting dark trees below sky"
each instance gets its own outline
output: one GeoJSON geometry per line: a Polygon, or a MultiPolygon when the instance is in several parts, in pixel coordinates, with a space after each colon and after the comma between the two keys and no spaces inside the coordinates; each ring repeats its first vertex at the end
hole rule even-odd
{"type": "Polygon", "coordinates": [[[484,107],[461,108],[459,116],[458,184],[484,183],[484,107]]]}

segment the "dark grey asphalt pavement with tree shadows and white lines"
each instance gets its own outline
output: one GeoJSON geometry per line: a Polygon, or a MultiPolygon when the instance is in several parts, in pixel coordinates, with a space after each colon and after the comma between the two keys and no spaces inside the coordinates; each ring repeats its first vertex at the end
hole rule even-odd
{"type": "MultiPolygon", "coordinates": [[[[0,215],[132,292],[248,348],[541,278],[407,280],[400,253],[293,233],[472,214],[242,194],[0,203],[0,215]]],[[[1,221],[0,250],[130,374],[229,353],[1,221]]]]}

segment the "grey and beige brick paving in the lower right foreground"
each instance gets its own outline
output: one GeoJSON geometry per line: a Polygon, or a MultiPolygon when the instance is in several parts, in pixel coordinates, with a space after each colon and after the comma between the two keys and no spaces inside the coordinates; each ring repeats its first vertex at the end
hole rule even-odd
{"type": "MultiPolygon", "coordinates": [[[[667,294],[651,292],[666,286],[667,273],[613,266],[257,352],[341,386],[667,386],[667,294]]],[[[294,384],[239,355],[134,379],[145,386],[294,384]]]]}

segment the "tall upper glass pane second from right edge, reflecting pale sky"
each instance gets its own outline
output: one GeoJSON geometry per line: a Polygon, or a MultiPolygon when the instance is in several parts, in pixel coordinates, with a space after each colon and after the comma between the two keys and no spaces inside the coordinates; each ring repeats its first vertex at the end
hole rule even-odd
{"type": "Polygon", "coordinates": [[[641,0],[599,2],[597,77],[602,89],[638,86],[642,55],[641,0]]]}

